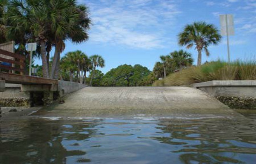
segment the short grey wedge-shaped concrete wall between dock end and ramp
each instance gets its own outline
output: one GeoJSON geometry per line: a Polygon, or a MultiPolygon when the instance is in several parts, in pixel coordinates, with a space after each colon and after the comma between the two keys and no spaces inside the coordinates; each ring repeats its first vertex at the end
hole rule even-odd
{"type": "Polygon", "coordinates": [[[86,85],[80,83],[62,80],[58,81],[58,91],[61,97],[85,87],[86,85]]]}

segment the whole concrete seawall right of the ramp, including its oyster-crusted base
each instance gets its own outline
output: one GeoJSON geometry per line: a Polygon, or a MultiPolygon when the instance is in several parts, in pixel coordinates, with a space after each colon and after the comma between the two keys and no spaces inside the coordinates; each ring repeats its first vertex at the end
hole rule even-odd
{"type": "Polygon", "coordinates": [[[207,81],[193,86],[230,108],[256,109],[256,80],[207,81]]]}

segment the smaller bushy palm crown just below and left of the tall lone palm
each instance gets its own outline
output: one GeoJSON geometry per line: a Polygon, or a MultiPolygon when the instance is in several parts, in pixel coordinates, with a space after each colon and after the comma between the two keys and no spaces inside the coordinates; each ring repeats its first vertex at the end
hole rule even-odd
{"type": "Polygon", "coordinates": [[[186,52],[183,50],[173,51],[170,53],[170,56],[173,61],[173,65],[178,69],[182,69],[183,67],[191,66],[194,61],[191,58],[191,54],[189,52],[186,52]]]}

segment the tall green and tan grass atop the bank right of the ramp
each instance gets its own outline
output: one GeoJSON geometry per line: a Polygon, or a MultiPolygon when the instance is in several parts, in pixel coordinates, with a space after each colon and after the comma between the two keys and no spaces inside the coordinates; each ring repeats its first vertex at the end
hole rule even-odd
{"type": "Polygon", "coordinates": [[[255,61],[216,61],[201,66],[192,66],[157,80],[153,86],[182,86],[212,80],[256,80],[255,61]]]}

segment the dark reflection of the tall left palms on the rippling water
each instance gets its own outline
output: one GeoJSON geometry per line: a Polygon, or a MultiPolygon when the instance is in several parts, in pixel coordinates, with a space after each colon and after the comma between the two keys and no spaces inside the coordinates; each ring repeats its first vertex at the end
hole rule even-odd
{"type": "Polygon", "coordinates": [[[64,120],[29,119],[2,124],[0,163],[66,164],[71,156],[78,156],[78,162],[90,162],[83,158],[86,152],[76,148],[79,146],[76,142],[90,138],[95,130],[88,129],[87,134],[80,132],[96,124],[72,123],[72,128],[69,128],[65,127],[66,123],[64,120]],[[63,144],[64,140],[71,144],[63,144]]]}

